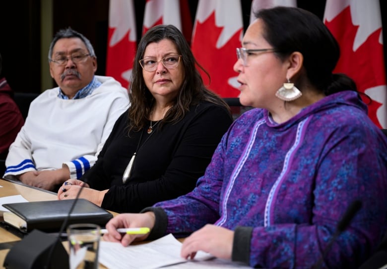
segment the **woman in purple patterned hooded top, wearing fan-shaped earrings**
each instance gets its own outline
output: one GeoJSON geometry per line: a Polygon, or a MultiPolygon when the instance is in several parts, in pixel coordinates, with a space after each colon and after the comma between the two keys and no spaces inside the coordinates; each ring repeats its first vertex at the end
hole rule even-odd
{"type": "Polygon", "coordinates": [[[295,7],[256,17],[234,65],[241,103],[256,109],[234,121],[192,192],[114,217],[104,239],[173,233],[188,236],[187,259],[358,268],[387,227],[386,137],[352,79],[332,73],[339,47],[320,18],[295,7]],[[116,230],[142,226],[150,233],[116,230]]]}

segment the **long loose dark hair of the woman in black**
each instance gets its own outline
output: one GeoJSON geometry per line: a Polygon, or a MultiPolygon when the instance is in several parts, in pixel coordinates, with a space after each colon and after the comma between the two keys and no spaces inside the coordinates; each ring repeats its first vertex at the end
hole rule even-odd
{"type": "Polygon", "coordinates": [[[155,102],[152,94],[145,85],[139,60],[143,58],[145,49],[150,43],[158,43],[164,39],[172,41],[177,48],[178,54],[182,55],[179,64],[183,64],[184,66],[184,82],[172,107],[168,110],[159,125],[165,122],[178,122],[184,117],[191,106],[197,105],[200,101],[208,101],[219,106],[224,106],[230,111],[230,108],[223,99],[204,87],[203,80],[195,64],[200,68],[202,67],[196,62],[190,45],[180,30],[173,25],[157,25],[149,29],[141,38],[134,58],[129,88],[129,100],[131,103],[128,115],[129,131],[138,131],[145,126],[155,102]]]}

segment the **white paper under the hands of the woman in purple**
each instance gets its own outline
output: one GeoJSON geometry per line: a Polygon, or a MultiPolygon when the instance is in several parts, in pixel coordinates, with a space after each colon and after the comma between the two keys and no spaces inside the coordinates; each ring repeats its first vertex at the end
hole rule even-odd
{"type": "MultiPolygon", "coordinates": [[[[100,242],[99,263],[109,269],[156,269],[169,265],[182,266],[192,263],[180,257],[182,243],[172,234],[139,245],[123,247],[120,243],[100,242]]],[[[205,261],[214,257],[208,253],[197,252],[194,261],[205,261]]],[[[179,267],[178,266],[178,267],[179,267]]]]}

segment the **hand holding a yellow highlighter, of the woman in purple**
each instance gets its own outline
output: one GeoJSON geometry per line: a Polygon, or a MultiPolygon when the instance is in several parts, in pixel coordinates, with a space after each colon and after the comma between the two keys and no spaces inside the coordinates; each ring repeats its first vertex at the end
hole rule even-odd
{"type": "Polygon", "coordinates": [[[117,231],[118,228],[139,228],[139,227],[148,227],[152,229],[155,223],[155,215],[153,212],[145,212],[140,214],[120,214],[108,221],[106,223],[106,229],[108,233],[105,233],[103,239],[105,241],[111,242],[121,242],[121,244],[126,247],[133,241],[142,241],[145,240],[149,233],[147,234],[123,234],[117,231]]]}

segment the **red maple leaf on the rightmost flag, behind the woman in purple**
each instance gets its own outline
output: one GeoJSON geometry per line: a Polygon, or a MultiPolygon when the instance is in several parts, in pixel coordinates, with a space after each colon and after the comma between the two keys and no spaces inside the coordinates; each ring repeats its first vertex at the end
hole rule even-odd
{"type": "MultiPolygon", "coordinates": [[[[362,93],[369,88],[386,85],[383,45],[379,43],[382,28],[372,33],[356,51],[353,51],[353,43],[359,27],[352,24],[349,6],[332,21],[325,21],[325,25],[340,46],[340,58],[333,72],[350,76],[356,82],[358,91],[362,93]]],[[[382,104],[376,100],[372,100],[371,103],[366,98],[363,100],[368,104],[369,117],[381,128],[376,111],[382,104]]]]}

